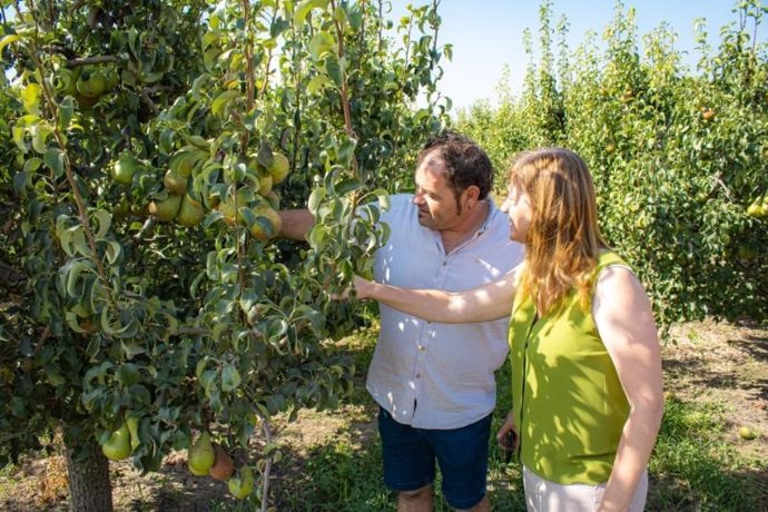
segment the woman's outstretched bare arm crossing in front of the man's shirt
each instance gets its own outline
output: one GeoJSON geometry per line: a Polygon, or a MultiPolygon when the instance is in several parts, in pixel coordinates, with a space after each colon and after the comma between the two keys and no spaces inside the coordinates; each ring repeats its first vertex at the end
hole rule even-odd
{"type": "Polygon", "coordinates": [[[430,322],[462,324],[502,318],[510,314],[518,268],[480,288],[460,293],[410,289],[355,277],[358,298],[373,298],[430,322]]]}

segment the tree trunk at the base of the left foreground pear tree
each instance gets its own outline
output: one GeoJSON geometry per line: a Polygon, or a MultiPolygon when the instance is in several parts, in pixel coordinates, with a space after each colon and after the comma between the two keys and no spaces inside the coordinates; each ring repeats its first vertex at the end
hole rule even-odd
{"type": "Polygon", "coordinates": [[[85,442],[90,445],[66,447],[69,470],[69,510],[111,512],[112,485],[109,482],[109,461],[101,453],[98,443],[85,442]]]}

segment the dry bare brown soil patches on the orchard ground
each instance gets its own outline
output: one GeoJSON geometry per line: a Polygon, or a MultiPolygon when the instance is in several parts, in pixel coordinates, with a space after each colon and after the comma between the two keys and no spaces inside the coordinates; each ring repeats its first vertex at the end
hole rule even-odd
{"type": "MultiPolygon", "coordinates": [[[[768,327],[746,322],[676,326],[662,356],[668,394],[723,406],[727,441],[746,457],[768,460],[768,327]],[[740,439],[741,426],[756,430],[759,437],[740,439]]],[[[280,510],[280,490],[294,488],[288,482],[302,477],[308,452],[339,436],[348,440],[351,433],[361,447],[377,442],[373,407],[363,400],[334,412],[303,411],[293,423],[275,419],[274,435],[285,454],[272,479],[275,509],[280,510]]],[[[161,472],[145,476],[129,462],[112,463],[111,477],[118,511],[210,511],[235,504],[226,484],[191,476],[184,453],[169,455],[161,472]]],[[[68,510],[63,457],[29,457],[18,467],[2,470],[0,510],[68,510]]]]}

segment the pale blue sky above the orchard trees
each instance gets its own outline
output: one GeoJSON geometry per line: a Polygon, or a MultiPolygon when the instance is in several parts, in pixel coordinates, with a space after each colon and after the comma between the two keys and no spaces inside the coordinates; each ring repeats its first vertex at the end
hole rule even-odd
{"type": "MultiPolygon", "coordinates": [[[[404,14],[406,4],[423,6],[427,0],[392,0],[393,19],[404,14]]],[[[738,21],[732,12],[736,0],[623,0],[624,10],[636,9],[638,36],[651,32],[660,23],[668,23],[677,32],[676,48],[687,52],[685,62],[695,67],[698,52],[695,42],[695,21],[705,18],[709,45],[717,49],[720,28],[738,21]]],[[[440,81],[443,96],[453,100],[454,112],[486,99],[495,105],[496,87],[503,65],[510,69],[510,87],[518,96],[529,57],[523,50],[523,30],[530,29],[534,46],[539,41],[538,0],[442,0],[439,12],[442,27],[439,43],[453,43],[453,60],[443,60],[444,76],[440,81]]],[[[762,1],[767,7],[768,1],[762,1]]],[[[598,40],[614,17],[614,0],[553,0],[552,26],[561,16],[569,22],[568,45],[574,50],[588,31],[598,40]]],[[[758,40],[768,39],[768,14],[761,20],[758,40]]],[[[553,41],[553,49],[557,49],[553,41]]]]}

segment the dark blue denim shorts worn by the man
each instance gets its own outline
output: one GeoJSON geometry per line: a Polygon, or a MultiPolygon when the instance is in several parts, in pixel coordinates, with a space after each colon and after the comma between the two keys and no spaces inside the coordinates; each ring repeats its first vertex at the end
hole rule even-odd
{"type": "Polygon", "coordinates": [[[443,495],[454,509],[471,509],[485,495],[491,414],[461,429],[414,429],[378,408],[384,483],[394,491],[415,491],[443,475],[443,495]]]}

